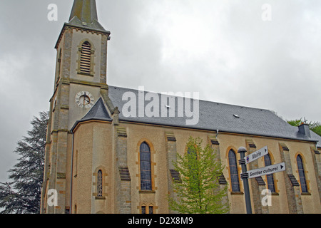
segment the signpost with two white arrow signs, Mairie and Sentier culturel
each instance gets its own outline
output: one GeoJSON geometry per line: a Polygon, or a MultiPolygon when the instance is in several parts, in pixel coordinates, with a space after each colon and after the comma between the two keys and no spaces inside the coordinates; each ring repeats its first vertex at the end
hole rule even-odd
{"type": "Polygon", "coordinates": [[[242,173],[240,174],[240,177],[243,180],[244,184],[244,195],[245,195],[245,206],[246,206],[246,212],[248,214],[252,214],[252,207],[251,207],[251,199],[250,199],[250,189],[248,185],[248,179],[254,178],[254,177],[260,177],[263,175],[270,175],[275,172],[281,172],[285,171],[285,162],[275,164],[275,165],[269,165],[266,167],[262,167],[256,170],[247,170],[246,165],[250,162],[253,162],[257,160],[260,157],[263,157],[264,155],[268,154],[267,146],[263,147],[262,149],[255,151],[251,153],[248,156],[245,156],[246,149],[245,147],[238,148],[238,152],[240,153],[240,160],[238,163],[242,167],[242,173]]]}

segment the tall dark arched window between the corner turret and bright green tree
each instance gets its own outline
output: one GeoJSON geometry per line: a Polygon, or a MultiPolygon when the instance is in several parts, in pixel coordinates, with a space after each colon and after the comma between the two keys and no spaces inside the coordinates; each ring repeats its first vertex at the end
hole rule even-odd
{"type": "Polygon", "coordinates": [[[152,190],[151,183],[151,149],[146,142],[140,147],[141,190],[152,190]]]}

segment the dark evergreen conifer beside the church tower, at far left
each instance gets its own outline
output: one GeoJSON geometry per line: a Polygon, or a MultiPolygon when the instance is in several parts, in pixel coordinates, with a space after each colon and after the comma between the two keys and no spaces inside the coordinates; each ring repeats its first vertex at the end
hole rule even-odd
{"type": "Polygon", "coordinates": [[[9,170],[11,182],[0,183],[1,214],[37,214],[40,211],[41,184],[44,178],[44,151],[49,115],[31,120],[28,137],[19,140],[18,162],[9,170]]]}

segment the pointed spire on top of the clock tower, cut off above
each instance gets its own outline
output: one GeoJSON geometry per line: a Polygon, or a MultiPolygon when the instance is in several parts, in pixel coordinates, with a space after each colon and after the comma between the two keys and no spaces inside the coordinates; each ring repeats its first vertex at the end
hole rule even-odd
{"type": "Polygon", "coordinates": [[[74,0],[69,24],[105,31],[98,22],[96,0],[74,0]]]}

